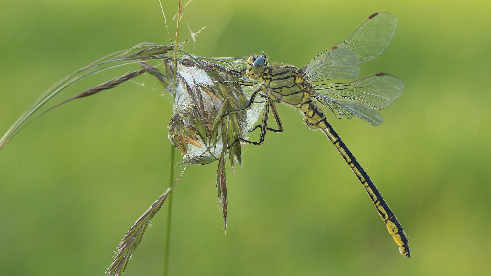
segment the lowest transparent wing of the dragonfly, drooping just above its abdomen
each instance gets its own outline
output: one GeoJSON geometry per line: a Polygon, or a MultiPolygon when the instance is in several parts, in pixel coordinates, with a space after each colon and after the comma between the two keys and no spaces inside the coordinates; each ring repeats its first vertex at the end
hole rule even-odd
{"type": "Polygon", "coordinates": [[[380,125],[382,123],[382,116],[377,113],[377,111],[367,107],[362,103],[349,100],[338,100],[330,97],[329,95],[316,92],[312,93],[312,97],[317,99],[323,106],[332,110],[337,118],[362,118],[363,120],[374,126],[380,125]]]}

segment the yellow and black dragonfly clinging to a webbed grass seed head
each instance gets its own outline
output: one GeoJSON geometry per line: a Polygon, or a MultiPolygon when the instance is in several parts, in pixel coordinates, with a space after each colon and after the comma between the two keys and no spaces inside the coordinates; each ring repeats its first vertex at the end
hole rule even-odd
{"type": "Polygon", "coordinates": [[[361,118],[371,125],[382,123],[382,116],[376,109],[388,107],[401,94],[404,83],[389,74],[377,73],[351,83],[320,83],[333,79],[354,79],[359,76],[360,64],[381,55],[394,36],[397,18],[389,13],[374,13],[366,18],[342,42],[327,49],[312,59],[303,68],[291,65],[272,67],[268,57],[252,55],[247,59],[246,68],[238,71],[246,75],[241,81],[216,81],[243,86],[260,84],[252,93],[246,107],[220,113],[214,125],[225,116],[246,112],[257,96],[264,98],[262,122],[248,132],[260,129],[259,141],[237,138],[228,147],[236,143],[262,144],[266,132],[283,132],[276,103],[292,105],[303,115],[303,122],[311,129],[320,129],[334,144],[346,163],[351,167],[358,180],[375,204],[382,221],[387,226],[394,241],[399,245],[401,254],[410,257],[408,238],[394,212],[385,202],[372,179],[358,163],[353,153],[327,121],[321,109],[330,109],[337,118],[361,118]],[[268,116],[271,109],[277,129],[269,128],[268,116]]]}

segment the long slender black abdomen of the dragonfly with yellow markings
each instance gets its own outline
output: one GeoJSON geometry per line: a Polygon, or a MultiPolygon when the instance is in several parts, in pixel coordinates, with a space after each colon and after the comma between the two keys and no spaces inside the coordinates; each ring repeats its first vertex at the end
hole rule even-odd
{"type": "Polygon", "coordinates": [[[327,122],[327,119],[324,118],[322,122],[327,126],[326,129],[321,128],[322,131],[338,149],[339,153],[343,156],[346,163],[348,163],[353,172],[355,172],[358,180],[365,187],[365,190],[372,199],[372,202],[375,204],[379,215],[382,217],[382,221],[385,222],[385,226],[387,226],[389,233],[392,235],[392,238],[394,238],[394,241],[399,245],[399,251],[401,251],[401,254],[405,255],[406,257],[410,257],[411,251],[409,250],[408,238],[403,231],[401,223],[395,217],[394,212],[390,210],[389,206],[383,199],[382,194],[379,192],[377,187],[375,187],[375,184],[370,179],[365,169],[363,169],[358,161],[356,161],[353,153],[351,153],[351,151],[344,144],[339,135],[327,122]]]}

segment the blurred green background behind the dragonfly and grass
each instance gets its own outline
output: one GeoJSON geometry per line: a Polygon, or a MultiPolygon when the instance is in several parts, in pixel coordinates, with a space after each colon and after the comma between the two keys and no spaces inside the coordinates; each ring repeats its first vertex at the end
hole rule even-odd
{"type": "MultiPolygon", "coordinates": [[[[177,1],[163,7],[172,18],[177,1]]],[[[302,67],[377,11],[399,24],[361,76],[393,74],[404,92],[378,127],[328,118],[402,222],[412,257],[399,254],[327,138],[282,106],[285,132],[247,146],[244,166],[228,173],[226,237],[214,197],[218,164],[185,172],[174,194],[171,276],[491,275],[490,1],[193,0],[191,28],[207,28],[187,50],[266,51],[302,67]]],[[[188,35],[183,28],[181,39],[188,35]]],[[[2,134],[89,62],[169,42],[158,0],[3,1],[0,40],[2,134]]],[[[118,75],[85,80],[57,100],[118,75]]],[[[151,78],[135,82],[43,115],[0,152],[1,275],[104,275],[121,238],[164,192],[171,105],[148,89],[151,78]]],[[[126,276],[162,275],[166,211],[126,276]]]]}

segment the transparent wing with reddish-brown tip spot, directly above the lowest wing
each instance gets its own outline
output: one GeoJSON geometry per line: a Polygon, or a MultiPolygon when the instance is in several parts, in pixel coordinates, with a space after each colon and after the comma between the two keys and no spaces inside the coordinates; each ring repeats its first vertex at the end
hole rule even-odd
{"type": "Polygon", "coordinates": [[[395,76],[378,73],[351,83],[319,84],[317,93],[328,94],[335,100],[360,102],[371,109],[384,109],[394,102],[404,88],[395,76]]]}

